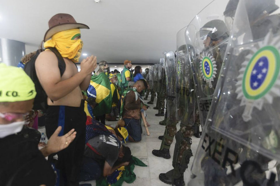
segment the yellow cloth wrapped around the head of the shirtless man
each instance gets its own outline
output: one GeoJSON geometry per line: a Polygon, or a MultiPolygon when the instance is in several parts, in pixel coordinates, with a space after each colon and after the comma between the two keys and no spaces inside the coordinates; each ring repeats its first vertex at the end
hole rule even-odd
{"type": "Polygon", "coordinates": [[[74,40],[75,37],[81,36],[80,29],[61,31],[52,36],[52,38],[44,43],[44,47],[55,47],[63,58],[68,58],[74,62],[79,62],[83,41],[81,39],[74,40]]]}

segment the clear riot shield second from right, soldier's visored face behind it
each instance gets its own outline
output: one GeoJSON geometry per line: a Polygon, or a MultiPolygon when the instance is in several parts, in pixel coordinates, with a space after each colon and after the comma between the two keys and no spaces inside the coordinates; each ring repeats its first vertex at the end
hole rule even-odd
{"type": "Polygon", "coordinates": [[[211,11],[215,10],[214,5],[220,7],[223,4],[226,5],[224,0],[215,0],[210,3],[190,22],[191,28],[186,30],[187,35],[192,34],[194,37],[190,43],[195,47],[191,65],[196,80],[195,90],[202,128],[213,99],[229,37],[229,31],[223,21],[223,12],[221,15],[217,14],[212,20],[206,16],[211,15],[211,11]]]}

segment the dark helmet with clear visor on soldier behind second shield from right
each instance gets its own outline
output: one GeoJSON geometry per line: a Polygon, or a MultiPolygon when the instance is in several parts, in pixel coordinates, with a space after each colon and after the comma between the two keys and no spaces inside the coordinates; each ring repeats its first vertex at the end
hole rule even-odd
{"type": "Polygon", "coordinates": [[[214,19],[207,22],[199,29],[199,34],[202,40],[205,40],[206,36],[209,36],[212,41],[226,39],[230,35],[225,22],[220,19],[214,19]]]}

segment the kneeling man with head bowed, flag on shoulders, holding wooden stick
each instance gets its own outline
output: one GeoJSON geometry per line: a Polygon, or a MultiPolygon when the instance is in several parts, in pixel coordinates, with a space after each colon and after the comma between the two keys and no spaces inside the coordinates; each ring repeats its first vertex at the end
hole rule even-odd
{"type": "Polygon", "coordinates": [[[143,104],[139,93],[147,87],[147,82],[141,79],[136,81],[132,88],[128,88],[122,95],[120,116],[125,121],[130,142],[141,141],[141,109],[147,110],[147,107],[143,104]]]}

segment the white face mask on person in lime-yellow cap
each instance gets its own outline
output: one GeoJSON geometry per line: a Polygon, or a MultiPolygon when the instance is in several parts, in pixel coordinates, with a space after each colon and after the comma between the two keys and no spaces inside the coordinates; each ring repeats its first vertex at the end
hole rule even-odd
{"type": "Polygon", "coordinates": [[[23,125],[24,121],[18,121],[10,124],[0,124],[0,138],[20,132],[23,125]]]}

